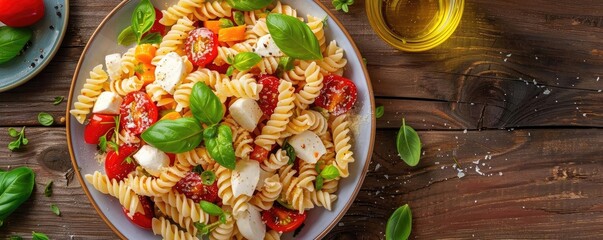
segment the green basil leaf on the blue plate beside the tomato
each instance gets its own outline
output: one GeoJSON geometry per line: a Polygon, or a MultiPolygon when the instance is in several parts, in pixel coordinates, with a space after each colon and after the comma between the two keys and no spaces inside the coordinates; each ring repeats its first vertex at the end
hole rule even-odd
{"type": "Polygon", "coordinates": [[[32,35],[29,28],[0,27],[0,64],[19,55],[32,35]]]}

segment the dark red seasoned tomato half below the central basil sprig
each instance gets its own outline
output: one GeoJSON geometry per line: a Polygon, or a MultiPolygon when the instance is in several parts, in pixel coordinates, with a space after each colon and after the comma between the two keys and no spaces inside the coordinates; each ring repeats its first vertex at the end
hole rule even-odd
{"type": "Polygon", "coordinates": [[[201,200],[212,203],[220,201],[218,197],[218,180],[216,179],[212,185],[204,185],[201,176],[195,172],[188,172],[184,178],[176,183],[174,188],[197,203],[201,200]]]}

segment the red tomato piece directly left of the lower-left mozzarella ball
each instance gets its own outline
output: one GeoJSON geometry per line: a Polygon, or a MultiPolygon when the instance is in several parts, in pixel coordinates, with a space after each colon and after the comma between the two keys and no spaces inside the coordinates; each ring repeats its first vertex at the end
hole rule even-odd
{"type": "Polygon", "coordinates": [[[110,147],[107,147],[107,149],[111,150],[107,153],[107,158],[105,158],[105,173],[107,177],[121,181],[130,172],[136,170],[134,160],[128,163],[126,159],[138,150],[138,146],[122,145],[117,152],[113,151],[110,147]]]}

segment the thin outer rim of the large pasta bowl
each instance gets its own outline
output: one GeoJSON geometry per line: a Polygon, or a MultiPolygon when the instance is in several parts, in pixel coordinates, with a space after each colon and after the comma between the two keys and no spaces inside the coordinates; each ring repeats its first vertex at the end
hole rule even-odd
{"type": "MultiPolygon", "coordinates": [[[[78,182],[80,183],[80,186],[82,187],[82,189],[84,190],[84,193],[86,194],[86,197],[88,197],[88,200],[90,202],[90,204],[92,204],[92,207],[94,207],[94,210],[96,211],[96,213],[101,217],[101,219],[105,222],[105,224],[107,224],[107,226],[109,226],[109,228],[119,236],[119,238],[121,239],[127,239],[123,233],[121,231],[119,231],[115,225],[113,225],[113,223],[111,221],[109,221],[109,219],[107,218],[107,216],[105,216],[105,214],[100,210],[100,207],[98,206],[98,204],[96,203],[96,201],[94,200],[94,198],[92,197],[92,194],[90,193],[89,189],[86,186],[86,182],[84,181],[84,179],[82,178],[82,175],[80,173],[80,170],[78,168],[78,164],[77,161],[75,160],[75,154],[73,152],[73,144],[72,144],[72,139],[71,139],[71,117],[69,115],[69,111],[71,109],[71,105],[73,103],[73,96],[74,96],[74,90],[75,90],[75,83],[77,81],[79,72],[80,72],[80,68],[82,67],[82,63],[84,62],[84,59],[86,58],[86,53],[89,50],[90,47],[90,43],[91,40],[94,39],[96,37],[96,35],[99,33],[99,30],[101,27],[103,27],[105,25],[105,23],[111,18],[113,17],[113,15],[115,15],[115,13],[120,10],[126,3],[128,3],[130,0],[123,0],[121,1],[117,6],[115,6],[115,8],[113,8],[109,14],[107,14],[107,16],[105,18],[103,18],[103,20],[100,22],[100,24],[98,25],[98,27],[94,30],[94,32],[92,33],[92,35],[90,36],[90,39],[88,39],[88,42],[86,43],[86,46],[84,47],[84,50],[82,51],[82,55],[80,55],[80,59],[78,60],[77,66],[75,68],[75,72],[73,74],[73,78],[71,79],[71,87],[69,89],[69,98],[67,100],[67,107],[66,107],[66,111],[65,111],[65,119],[66,119],[66,135],[67,135],[67,146],[68,146],[68,150],[69,150],[69,157],[71,158],[71,165],[73,166],[73,169],[75,171],[75,176],[78,179],[78,182]]],[[[354,50],[354,52],[356,53],[357,56],[357,60],[362,63],[362,55],[360,54],[360,50],[358,49],[358,46],[356,45],[356,43],[354,42],[352,36],[350,35],[350,33],[347,31],[347,29],[343,26],[343,24],[339,21],[339,19],[337,19],[335,17],[335,15],[329,11],[329,8],[326,7],[322,2],[320,2],[320,0],[312,0],[314,3],[316,3],[320,8],[322,8],[323,11],[325,11],[329,17],[335,21],[335,23],[337,24],[337,26],[341,29],[341,31],[344,33],[344,35],[346,36],[346,38],[348,39],[348,41],[350,41],[350,45],[352,46],[352,49],[354,50]]],[[[370,133],[370,141],[369,141],[369,148],[367,150],[367,156],[365,157],[366,161],[364,163],[364,167],[362,169],[362,172],[360,174],[360,179],[358,181],[358,185],[355,186],[354,191],[352,192],[352,195],[350,196],[350,199],[348,199],[348,201],[346,202],[346,204],[343,206],[342,211],[335,216],[335,218],[333,219],[333,221],[322,231],[320,232],[320,234],[318,234],[318,236],[315,237],[315,239],[322,239],[324,236],[326,236],[331,229],[333,229],[333,227],[335,227],[335,224],[337,224],[341,218],[343,218],[343,216],[347,213],[347,211],[349,210],[349,208],[352,206],[352,204],[354,203],[354,199],[356,199],[356,196],[358,195],[358,192],[360,191],[360,189],[362,188],[362,184],[364,183],[364,179],[366,177],[366,174],[368,172],[368,168],[371,162],[371,157],[372,157],[372,153],[373,153],[373,147],[374,147],[374,143],[375,143],[375,133],[376,133],[376,120],[374,117],[374,112],[375,112],[375,98],[374,98],[374,93],[373,93],[373,86],[368,74],[368,69],[366,67],[366,64],[360,64],[362,66],[362,73],[364,74],[364,79],[366,81],[366,85],[367,85],[367,89],[368,89],[368,94],[369,94],[369,105],[371,108],[371,133],[370,133]]]]}

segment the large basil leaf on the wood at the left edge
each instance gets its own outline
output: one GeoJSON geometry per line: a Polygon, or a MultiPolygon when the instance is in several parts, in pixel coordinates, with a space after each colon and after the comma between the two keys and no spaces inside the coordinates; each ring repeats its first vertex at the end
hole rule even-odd
{"type": "Polygon", "coordinates": [[[31,195],[35,174],[28,167],[0,172],[0,226],[31,195]]]}

